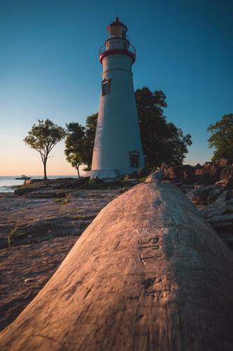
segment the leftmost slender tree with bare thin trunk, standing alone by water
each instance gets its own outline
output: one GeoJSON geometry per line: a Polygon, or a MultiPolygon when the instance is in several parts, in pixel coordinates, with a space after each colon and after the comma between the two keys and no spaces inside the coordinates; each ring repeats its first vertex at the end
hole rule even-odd
{"type": "Polygon", "coordinates": [[[53,147],[64,139],[65,135],[64,128],[57,126],[50,119],[45,119],[45,121],[38,119],[38,124],[34,124],[27,137],[24,138],[24,143],[40,153],[45,179],[47,179],[46,164],[49,158],[48,155],[53,147]]]}

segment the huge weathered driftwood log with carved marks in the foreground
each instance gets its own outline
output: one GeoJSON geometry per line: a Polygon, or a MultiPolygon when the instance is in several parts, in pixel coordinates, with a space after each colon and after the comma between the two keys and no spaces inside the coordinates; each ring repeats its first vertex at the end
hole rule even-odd
{"type": "Polygon", "coordinates": [[[233,350],[233,255],[181,190],[108,204],[1,350],[233,350]]]}

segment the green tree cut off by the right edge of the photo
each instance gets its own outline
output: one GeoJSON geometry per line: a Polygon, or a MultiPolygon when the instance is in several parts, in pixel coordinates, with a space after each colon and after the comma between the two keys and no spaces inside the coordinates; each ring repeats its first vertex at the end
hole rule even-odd
{"type": "Polygon", "coordinates": [[[207,131],[212,133],[209,147],[214,147],[212,161],[224,157],[233,162],[233,114],[225,114],[216,124],[211,124],[207,131]]]}

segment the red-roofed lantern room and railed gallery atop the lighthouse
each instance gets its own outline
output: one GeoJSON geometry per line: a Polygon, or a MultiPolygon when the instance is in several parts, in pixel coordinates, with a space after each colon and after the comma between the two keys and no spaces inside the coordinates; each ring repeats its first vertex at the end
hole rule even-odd
{"type": "Polygon", "coordinates": [[[127,26],[116,17],[115,20],[108,25],[107,32],[108,37],[105,44],[99,49],[100,62],[102,63],[106,55],[121,53],[130,56],[132,58],[132,63],[134,63],[136,51],[134,46],[130,45],[127,39],[127,26]]]}

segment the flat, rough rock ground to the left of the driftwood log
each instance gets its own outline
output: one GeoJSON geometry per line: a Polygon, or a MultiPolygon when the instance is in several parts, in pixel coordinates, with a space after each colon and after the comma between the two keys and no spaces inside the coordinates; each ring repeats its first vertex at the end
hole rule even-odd
{"type": "Polygon", "coordinates": [[[83,230],[118,194],[117,190],[70,191],[64,203],[66,199],[1,193],[0,331],[31,302],[83,230]],[[25,279],[33,280],[25,284],[25,279]]]}

